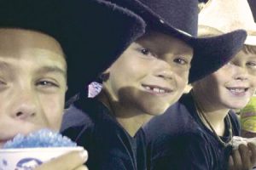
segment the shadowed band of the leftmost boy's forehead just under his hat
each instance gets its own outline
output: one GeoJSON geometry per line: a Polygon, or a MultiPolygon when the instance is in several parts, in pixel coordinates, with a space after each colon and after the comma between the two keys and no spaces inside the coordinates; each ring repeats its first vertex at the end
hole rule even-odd
{"type": "Polygon", "coordinates": [[[38,31],[15,28],[0,28],[0,50],[22,51],[26,48],[41,48],[63,55],[61,45],[53,37],[38,31]]]}

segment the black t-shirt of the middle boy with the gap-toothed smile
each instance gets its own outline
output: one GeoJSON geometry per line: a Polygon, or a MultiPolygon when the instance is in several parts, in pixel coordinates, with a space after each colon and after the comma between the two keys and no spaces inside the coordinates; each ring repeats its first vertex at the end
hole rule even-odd
{"type": "Polygon", "coordinates": [[[146,169],[145,135],[132,138],[96,99],[74,102],[64,114],[61,131],[88,150],[90,170],[146,169]]]}

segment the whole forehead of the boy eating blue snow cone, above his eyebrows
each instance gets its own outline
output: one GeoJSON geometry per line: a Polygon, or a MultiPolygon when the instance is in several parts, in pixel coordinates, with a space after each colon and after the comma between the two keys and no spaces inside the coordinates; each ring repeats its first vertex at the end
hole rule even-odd
{"type": "Polygon", "coordinates": [[[54,38],[37,31],[0,28],[0,61],[17,61],[40,67],[55,65],[64,71],[67,64],[61,46],[54,38]]]}

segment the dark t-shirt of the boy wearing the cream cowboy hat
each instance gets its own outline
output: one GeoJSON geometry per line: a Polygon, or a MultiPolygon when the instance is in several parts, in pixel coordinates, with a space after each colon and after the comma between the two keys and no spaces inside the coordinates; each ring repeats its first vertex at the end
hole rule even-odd
{"type": "MultiPolygon", "coordinates": [[[[230,111],[233,135],[240,134],[240,125],[230,111]]],[[[227,120],[225,118],[226,126],[227,120]]],[[[227,129],[227,128],[226,128],[227,129]]],[[[146,134],[148,169],[221,170],[227,168],[232,147],[218,142],[201,122],[193,98],[185,94],[165,114],[154,117],[140,130],[146,134]]],[[[229,136],[225,132],[223,140],[229,136]]]]}

